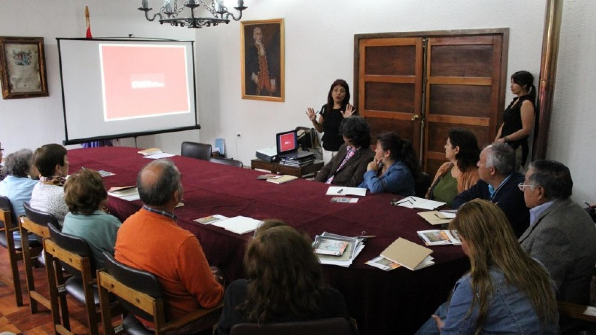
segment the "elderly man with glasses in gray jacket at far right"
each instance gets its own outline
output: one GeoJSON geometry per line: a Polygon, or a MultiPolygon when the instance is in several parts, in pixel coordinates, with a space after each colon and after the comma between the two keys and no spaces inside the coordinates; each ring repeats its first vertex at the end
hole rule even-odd
{"type": "Polygon", "coordinates": [[[569,168],[552,160],[530,164],[519,185],[530,208],[530,227],[519,238],[557,283],[557,299],[588,305],[596,262],[596,228],[588,213],[569,197],[569,168]]]}

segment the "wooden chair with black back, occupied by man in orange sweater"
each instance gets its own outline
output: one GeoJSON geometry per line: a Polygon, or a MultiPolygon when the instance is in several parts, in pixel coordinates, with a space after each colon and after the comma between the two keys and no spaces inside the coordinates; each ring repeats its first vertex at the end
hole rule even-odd
{"type": "Polygon", "coordinates": [[[104,262],[105,270],[97,272],[97,283],[100,291],[101,320],[106,335],[119,334],[122,330],[129,334],[164,334],[170,330],[181,329],[213,313],[221,313],[223,305],[220,303],[215,308],[200,309],[178,320],[166,320],[164,293],[156,275],[126,266],[105,252],[104,262]],[[108,293],[115,294],[124,308],[131,312],[122,325],[115,328],[111,325],[108,293]],[[153,320],[155,331],[147,330],[135,315],[144,320],[153,320]]]}

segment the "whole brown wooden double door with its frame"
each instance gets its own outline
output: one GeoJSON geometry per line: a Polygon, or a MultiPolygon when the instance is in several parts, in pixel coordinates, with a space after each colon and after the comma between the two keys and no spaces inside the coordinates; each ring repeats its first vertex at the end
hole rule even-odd
{"type": "Polygon", "coordinates": [[[446,161],[450,129],[469,129],[481,147],[495,138],[508,30],[427,33],[434,36],[356,35],[355,104],[371,126],[373,144],[381,132],[398,132],[434,175],[446,161]]]}

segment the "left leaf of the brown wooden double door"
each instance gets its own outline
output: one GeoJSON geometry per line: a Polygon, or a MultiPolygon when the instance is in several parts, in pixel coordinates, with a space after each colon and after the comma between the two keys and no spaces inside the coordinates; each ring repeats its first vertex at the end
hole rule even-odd
{"type": "Polygon", "coordinates": [[[371,126],[410,139],[420,157],[423,38],[374,38],[359,42],[358,110],[371,126]]]}

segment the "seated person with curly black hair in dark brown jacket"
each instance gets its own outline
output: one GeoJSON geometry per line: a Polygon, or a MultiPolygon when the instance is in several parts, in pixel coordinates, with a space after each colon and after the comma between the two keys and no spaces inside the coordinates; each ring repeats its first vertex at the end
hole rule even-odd
{"type": "Polygon", "coordinates": [[[368,163],[374,159],[374,153],[370,150],[371,128],[364,117],[350,116],[342,121],[340,132],[344,144],[337,155],[316,174],[315,180],[358,187],[364,180],[368,163]]]}

